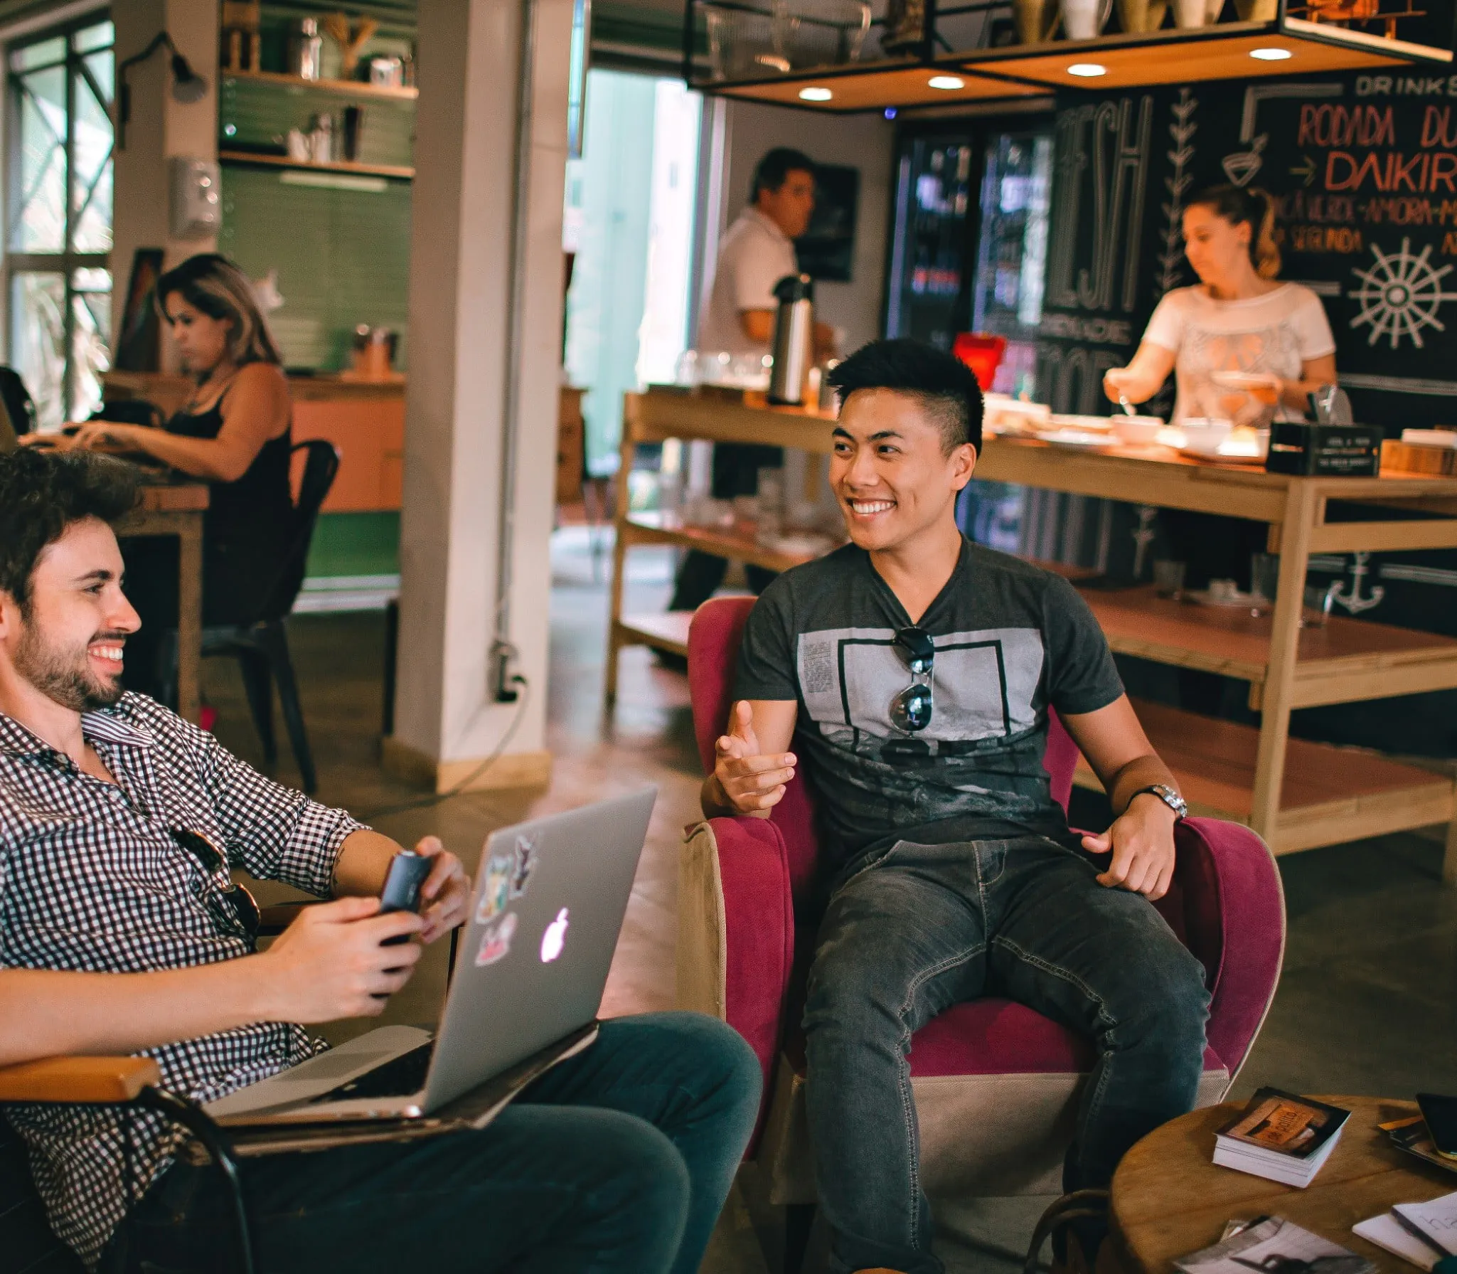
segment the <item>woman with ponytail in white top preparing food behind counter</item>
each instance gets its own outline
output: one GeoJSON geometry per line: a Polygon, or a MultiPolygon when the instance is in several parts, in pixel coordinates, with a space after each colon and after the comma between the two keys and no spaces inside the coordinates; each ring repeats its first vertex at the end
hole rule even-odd
{"type": "Polygon", "coordinates": [[[1183,214],[1193,287],[1164,294],[1126,367],[1103,376],[1115,402],[1147,402],[1174,373],[1173,423],[1260,427],[1303,420],[1305,395],[1336,380],[1336,341],[1320,297],[1281,283],[1268,194],[1217,185],[1183,214]]]}

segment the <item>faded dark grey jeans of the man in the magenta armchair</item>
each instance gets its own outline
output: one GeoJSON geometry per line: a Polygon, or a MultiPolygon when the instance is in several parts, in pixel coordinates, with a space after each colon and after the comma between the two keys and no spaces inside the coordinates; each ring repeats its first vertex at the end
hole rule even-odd
{"type": "Polygon", "coordinates": [[[1107,1187],[1125,1150],[1192,1108],[1203,971],[1152,904],[1096,875],[1042,837],[900,841],[830,895],[804,1029],[833,1270],[941,1270],[906,1057],[911,1035],[951,1004],[1005,996],[1096,1042],[1067,1189],[1107,1187]]]}

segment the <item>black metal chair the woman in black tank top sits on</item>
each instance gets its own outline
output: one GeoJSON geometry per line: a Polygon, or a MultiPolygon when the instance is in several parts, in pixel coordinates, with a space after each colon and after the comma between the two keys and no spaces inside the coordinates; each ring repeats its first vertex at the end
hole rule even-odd
{"type": "MultiPolygon", "coordinates": [[[[303,587],[303,574],[309,560],[309,545],[313,528],[319,520],[319,507],[328,499],[334,478],[339,472],[339,449],[323,439],[294,443],[293,452],[303,452],[303,478],[299,482],[299,497],[294,503],[293,538],[288,551],[278,567],[278,574],[268,589],[268,603],[251,624],[208,627],[203,630],[203,657],[230,656],[237,660],[248,694],[248,707],[264,745],[264,757],[271,765],[278,759],[278,743],[272,727],[272,687],[278,685],[278,703],[283,707],[284,729],[293,757],[299,762],[303,790],[310,796],[318,784],[313,767],[313,752],[309,748],[309,733],[303,724],[303,707],[299,703],[299,682],[288,654],[288,633],[284,617],[303,587]]],[[[169,663],[176,668],[176,652],[169,663]]],[[[175,671],[172,679],[175,682],[175,671]]],[[[175,685],[169,687],[175,701],[175,685]]]]}

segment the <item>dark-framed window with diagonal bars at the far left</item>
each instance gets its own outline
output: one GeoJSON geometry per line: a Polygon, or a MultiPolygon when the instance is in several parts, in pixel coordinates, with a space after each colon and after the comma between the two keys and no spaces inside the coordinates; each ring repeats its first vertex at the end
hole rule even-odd
{"type": "MultiPolygon", "coordinates": [[[[101,50],[86,50],[82,52],[76,48],[77,32],[86,31],[87,28],[96,26],[102,22],[112,22],[112,13],[109,7],[92,9],[86,13],[80,13],[66,22],[58,22],[54,26],[47,26],[39,31],[26,32],[13,41],[4,44],[0,48],[0,54],[4,55],[4,226],[3,226],[3,245],[4,249],[4,270],[3,270],[3,286],[4,297],[0,302],[0,313],[3,313],[3,324],[0,324],[0,340],[4,341],[3,362],[9,364],[15,345],[13,345],[13,324],[15,324],[15,278],[17,274],[60,274],[64,287],[64,306],[61,310],[61,340],[63,340],[63,372],[61,372],[61,402],[64,404],[63,415],[66,418],[71,417],[71,410],[76,404],[76,302],[82,294],[90,294],[86,289],[76,287],[76,274],[80,270],[106,270],[112,277],[112,292],[115,292],[117,275],[111,268],[111,251],[106,252],[77,252],[71,248],[74,241],[76,227],[82,213],[89,206],[90,200],[80,208],[74,207],[73,201],[73,184],[74,184],[74,165],[76,165],[76,93],[80,80],[86,80],[90,92],[95,95],[96,101],[108,108],[108,114],[112,117],[112,146],[106,162],[112,165],[112,224],[115,226],[115,157],[117,157],[117,137],[115,137],[115,85],[112,86],[112,101],[108,102],[102,92],[101,85],[96,83],[90,70],[86,67],[86,58],[95,55],[101,50]],[[66,137],[61,143],[61,150],[66,160],[66,173],[63,179],[64,201],[66,201],[66,229],[61,239],[60,252],[17,252],[10,248],[10,235],[15,229],[16,220],[20,216],[25,201],[25,188],[22,181],[22,165],[23,156],[20,150],[20,121],[22,121],[22,105],[25,87],[20,80],[23,74],[29,71],[17,73],[12,67],[13,55],[20,50],[29,48],[31,45],[44,44],[51,39],[64,38],[66,41],[66,58],[64,61],[50,63],[48,66],[60,66],[66,69],[66,137]]],[[[115,25],[112,26],[112,61],[115,64],[115,25]]],[[[44,70],[45,67],[32,67],[29,70],[44,70]]],[[[105,171],[105,165],[102,165],[105,171]]],[[[99,181],[99,175],[98,175],[99,181]]],[[[92,188],[95,192],[95,185],[92,188]]],[[[29,388],[29,386],[28,386],[29,388]]]]}

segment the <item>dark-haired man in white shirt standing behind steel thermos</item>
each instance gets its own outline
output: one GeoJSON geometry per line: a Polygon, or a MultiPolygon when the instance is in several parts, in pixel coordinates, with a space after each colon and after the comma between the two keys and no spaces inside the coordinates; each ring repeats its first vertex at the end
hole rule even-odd
{"type": "MultiPolygon", "coordinates": [[[[798,150],[777,146],[753,171],[746,207],[718,245],[714,286],[698,321],[698,350],[705,359],[718,353],[763,357],[774,340],[778,302],[774,284],[798,274],[794,241],[809,229],[814,211],[814,160],[798,150]]],[[[833,329],[814,325],[816,351],[833,344],[833,329]]],[[[779,448],[718,443],[714,448],[712,494],[718,500],[753,496],[759,469],[784,461],[779,448]]],[[[670,611],[696,611],[723,583],[728,563],[692,550],[678,571],[670,611]]],[[[747,566],[749,587],[762,592],[774,573],[747,566]]]]}

